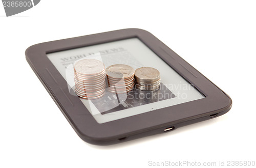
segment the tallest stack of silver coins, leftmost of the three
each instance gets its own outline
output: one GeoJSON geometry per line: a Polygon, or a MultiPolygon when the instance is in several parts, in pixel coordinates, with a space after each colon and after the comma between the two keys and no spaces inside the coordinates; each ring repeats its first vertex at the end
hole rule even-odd
{"type": "Polygon", "coordinates": [[[74,63],[75,92],[83,99],[97,99],[105,94],[105,66],[94,59],[74,63]]]}

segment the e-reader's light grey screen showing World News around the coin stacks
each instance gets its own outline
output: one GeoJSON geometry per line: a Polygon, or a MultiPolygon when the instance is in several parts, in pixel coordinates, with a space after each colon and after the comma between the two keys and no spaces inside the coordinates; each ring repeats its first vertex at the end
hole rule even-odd
{"type": "Polygon", "coordinates": [[[99,60],[105,68],[124,64],[135,70],[153,67],[160,72],[160,87],[156,90],[143,91],[134,87],[133,90],[120,94],[106,90],[102,97],[93,100],[80,98],[100,124],[204,98],[193,85],[138,38],[47,53],[47,57],[67,80],[70,94],[74,96],[76,93],[73,65],[81,59],[99,60]]]}

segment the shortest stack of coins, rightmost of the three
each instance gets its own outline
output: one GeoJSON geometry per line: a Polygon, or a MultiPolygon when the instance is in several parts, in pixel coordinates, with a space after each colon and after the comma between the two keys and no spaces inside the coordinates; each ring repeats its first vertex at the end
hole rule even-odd
{"type": "Polygon", "coordinates": [[[141,67],[134,74],[136,88],[142,91],[153,91],[159,88],[161,83],[160,72],[152,67],[141,67]]]}

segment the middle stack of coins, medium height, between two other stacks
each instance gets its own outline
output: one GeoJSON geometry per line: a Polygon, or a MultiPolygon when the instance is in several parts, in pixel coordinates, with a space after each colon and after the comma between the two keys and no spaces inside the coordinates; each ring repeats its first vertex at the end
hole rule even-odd
{"type": "Polygon", "coordinates": [[[108,90],[112,93],[127,93],[134,87],[134,69],[128,65],[116,64],[106,68],[108,90]]]}

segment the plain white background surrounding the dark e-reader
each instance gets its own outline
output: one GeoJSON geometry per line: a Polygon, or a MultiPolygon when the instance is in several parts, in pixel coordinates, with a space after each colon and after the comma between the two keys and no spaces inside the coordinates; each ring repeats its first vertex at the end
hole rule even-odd
{"type": "MultiPolygon", "coordinates": [[[[255,1],[41,1],[0,7],[0,167],[153,167],[148,161],[256,161],[255,1]],[[216,119],[112,145],[83,142],[25,59],[46,41],[135,27],[177,52],[233,100],[216,119]]],[[[218,167],[218,166],[216,166],[218,167]]]]}

